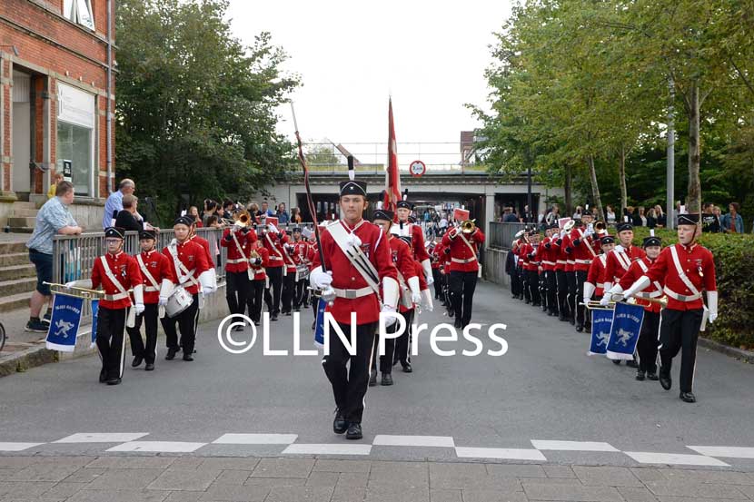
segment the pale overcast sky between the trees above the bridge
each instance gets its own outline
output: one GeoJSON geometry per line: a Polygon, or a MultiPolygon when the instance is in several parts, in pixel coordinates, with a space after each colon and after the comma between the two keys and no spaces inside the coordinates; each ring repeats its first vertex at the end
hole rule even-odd
{"type": "MultiPolygon", "coordinates": [[[[459,162],[461,130],[478,125],[464,103],[485,104],[492,32],[511,2],[257,2],[231,0],[233,33],[246,44],[273,34],[302,76],[293,94],[304,142],[342,143],[362,162],[385,162],[392,94],[399,162],[459,162]],[[406,144],[423,142],[424,144],[406,144]],[[444,145],[428,143],[451,142],[444,145]],[[379,154],[375,158],[375,150],[379,154]],[[453,153],[431,155],[430,153],[453,153]]],[[[293,138],[290,108],[282,133],[293,138]]]]}

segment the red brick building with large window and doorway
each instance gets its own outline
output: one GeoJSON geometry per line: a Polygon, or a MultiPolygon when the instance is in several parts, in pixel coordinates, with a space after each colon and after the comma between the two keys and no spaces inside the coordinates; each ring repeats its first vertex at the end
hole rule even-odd
{"type": "Polygon", "coordinates": [[[114,180],[114,8],[114,0],[0,1],[3,227],[29,226],[28,202],[46,201],[55,172],[74,183],[79,223],[102,221],[114,180]]]}

